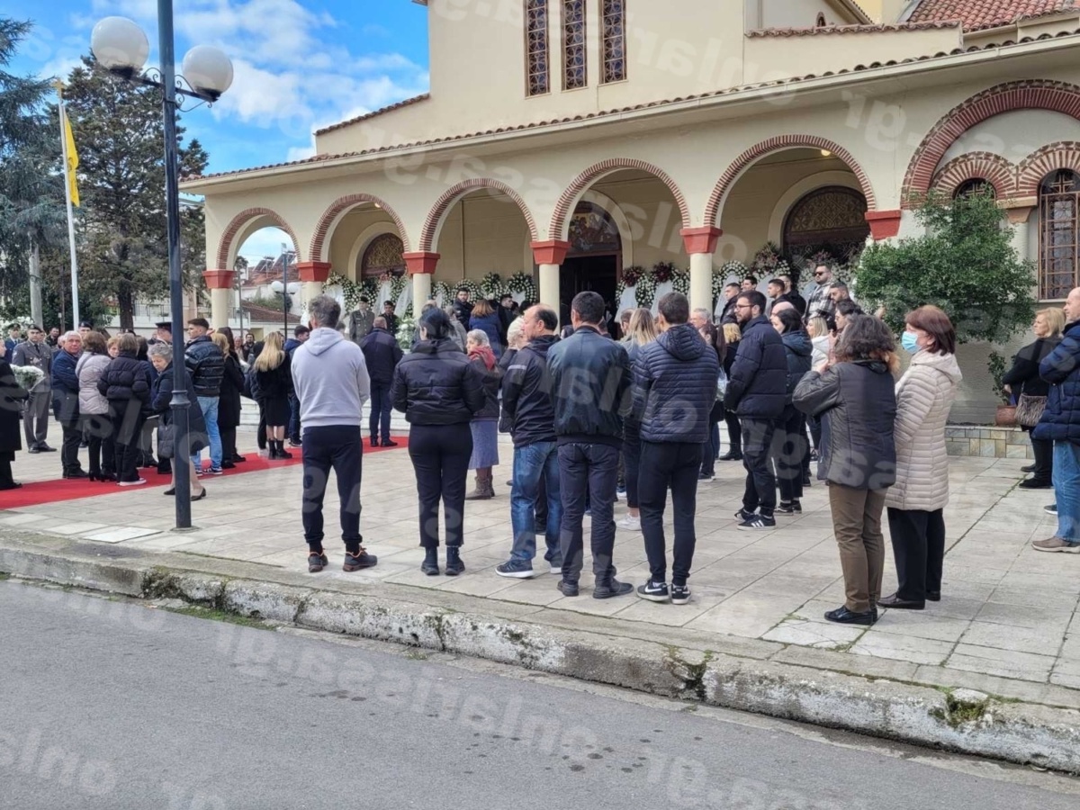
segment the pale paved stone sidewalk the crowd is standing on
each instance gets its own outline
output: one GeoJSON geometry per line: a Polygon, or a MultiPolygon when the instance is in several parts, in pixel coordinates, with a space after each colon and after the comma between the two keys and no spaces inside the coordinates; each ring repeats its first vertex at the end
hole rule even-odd
{"type": "MultiPolygon", "coordinates": [[[[241,444],[246,453],[254,444],[252,434],[242,433],[241,444]]],[[[510,548],[509,445],[501,445],[500,453],[498,497],[467,508],[462,556],[468,571],[459,578],[430,578],[419,571],[416,492],[404,449],[364,461],[362,531],[365,546],[380,558],[368,571],[343,573],[340,548],[327,543],[330,569],[307,573],[299,465],[208,480],[210,497],[194,504],[199,528],[190,534],[170,531],[173,501],[162,497],[162,487],[118,491],[103,485],[103,495],[93,498],[0,511],[0,540],[24,555],[40,550],[46,556],[110,557],[129,561],[123,565],[144,572],[153,567],[201,571],[299,588],[309,595],[356,594],[422,610],[525,622],[570,633],[570,638],[594,635],[616,651],[612,672],[618,670],[617,652],[643,644],[675,646],[704,654],[706,663],[718,654],[796,667],[800,689],[806,688],[807,673],[814,672],[826,680],[855,677],[866,684],[968,689],[1051,707],[1051,717],[1080,729],[1080,715],[1066,711],[1080,710],[1080,576],[1075,570],[1080,557],[1029,548],[1030,540],[1052,536],[1055,522],[1042,511],[1053,500],[1052,491],[1016,488],[1024,460],[953,459],[943,600],[928,604],[924,611],[886,610],[877,625],[863,629],[829,624],[822,617],[843,599],[825,487],[815,482],[804,499],[804,514],[779,517],[773,531],[735,531],[733,513],[742,492],[737,463],[718,462],[717,481],[699,487],[689,605],[656,605],[636,596],[595,600],[588,589],[580,597],[565,598],[555,589],[557,577],[550,573],[531,580],[500,578],[494,568],[510,548]]],[[[24,481],[53,477],[57,463],[51,454],[21,455],[16,474],[24,481]]],[[[337,505],[332,494],[326,505],[330,527],[337,505]]],[[[617,507],[617,517],[623,512],[617,507]]],[[[895,583],[889,557],[887,593],[895,583]]],[[[639,534],[619,531],[616,564],[620,579],[634,584],[646,579],[639,534]]],[[[39,569],[16,572],[33,570],[39,569]]],[[[438,644],[445,644],[442,635],[438,644]]],[[[535,660],[525,663],[538,665],[535,660]]],[[[603,663],[594,664],[593,670],[604,669],[603,663]]],[[[696,666],[692,661],[687,665],[696,666]]],[[[613,675],[594,674],[595,679],[621,683],[613,675]]],[[[683,683],[701,696],[708,692],[696,670],[683,683]]],[[[727,704],[742,705],[732,701],[727,704]]],[[[755,705],[753,700],[745,707],[778,713],[774,705],[755,705]]],[[[785,716],[874,731],[842,717],[805,712],[785,716]]],[[[953,744],[927,734],[916,739],[953,744]]],[[[1076,765],[1080,770],[1080,753],[1076,765]]]]}

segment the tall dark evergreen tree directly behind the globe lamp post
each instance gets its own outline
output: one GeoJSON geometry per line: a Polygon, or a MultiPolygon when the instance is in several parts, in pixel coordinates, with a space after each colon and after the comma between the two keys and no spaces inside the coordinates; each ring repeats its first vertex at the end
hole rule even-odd
{"type": "MultiPolygon", "coordinates": [[[[137,299],[168,291],[165,166],[161,93],[110,76],[90,57],[65,91],[79,150],[82,198],[80,287],[116,301],[121,328],[131,328],[137,299]]],[[[207,157],[177,127],[179,173],[202,174],[207,157]]],[[[181,211],[181,261],[189,288],[205,268],[201,207],[181,211]]]]}

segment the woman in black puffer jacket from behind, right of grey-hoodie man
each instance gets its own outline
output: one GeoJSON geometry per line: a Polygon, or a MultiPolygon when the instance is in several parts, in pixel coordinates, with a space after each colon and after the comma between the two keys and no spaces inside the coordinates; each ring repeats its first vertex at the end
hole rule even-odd
{"type": "Polygon", "coordinates": [[[420,342],[394,369],[394,408],[411,426],[408,455],[420,498],[420,570],[438,573],[438,502],[446,519],[446,575],[464,571],[460,549],[465,478],[472,457],[473,415],[484,407],[484,379],[450,338],[449,319],[440,309],[420,316],[420,342]]]}

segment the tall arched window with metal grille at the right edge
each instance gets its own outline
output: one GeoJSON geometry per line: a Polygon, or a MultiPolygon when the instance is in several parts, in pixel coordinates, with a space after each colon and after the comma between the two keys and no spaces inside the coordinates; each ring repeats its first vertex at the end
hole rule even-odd
{"type": "Polygon", "coordinates": [[[1039,291],[1067,298],[1080,284],[1080,175],[1062,170],[1039,187],[1039,291]]]}

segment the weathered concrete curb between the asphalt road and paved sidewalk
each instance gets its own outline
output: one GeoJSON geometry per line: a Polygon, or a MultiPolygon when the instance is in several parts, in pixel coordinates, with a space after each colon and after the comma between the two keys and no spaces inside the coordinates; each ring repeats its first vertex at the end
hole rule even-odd
{"type": "Polygon", "coordinates": [[[98,562],[0,548],[0,571],[126,596],[180,599],[249,618],[1080,773],[1080,712],[1002,702],[969,689],[943,691],[401,599],[149,567],[134,561],[98,562]]]}

